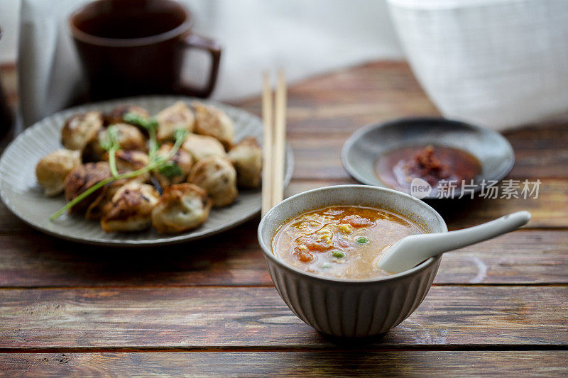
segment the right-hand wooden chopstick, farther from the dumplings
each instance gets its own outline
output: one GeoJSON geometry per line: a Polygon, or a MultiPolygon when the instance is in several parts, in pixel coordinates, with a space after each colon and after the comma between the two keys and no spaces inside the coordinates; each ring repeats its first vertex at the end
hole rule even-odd
{"type": "Polygon", "coordinates": [[[278,84],[275,96],[274,118],[274,155],[273,155],[273,194],[272,206],[279,204],[284,196],[284,154],[286,143],[286,78],[284,72],[278,72],[278,84]]]}

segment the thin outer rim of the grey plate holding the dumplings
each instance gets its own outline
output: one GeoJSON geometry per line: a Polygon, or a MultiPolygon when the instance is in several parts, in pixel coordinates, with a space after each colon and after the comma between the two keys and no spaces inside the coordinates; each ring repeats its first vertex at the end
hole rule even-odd
{"type": "MultiPolygon", "coordinates": [[[[170,99],[171,101],[185,101],[185,102],[202,101],[206,104],[212,104],[212,105],[217,105],[217,106],[222,106],[222,107],[229,107],[229,108],[236,109],[236,110],[244,112],[244,113],[248,113],[249,116],[256,118],[256,120],[259,123],[262,124],[260,117],[256,116],[256,114],[251,113],[250,111],[246,111],[245,109],[241,109],[241,108],[238,108],[236,106],[229,105],[229,104],[224,104],[220,101],[214,101],[214,100],[209,100],[209,99],[199,99],[197,97],[191,97],[191,96],[157,94],[157,95],[148,95],[148,96],[130,96],[130,97],[124,97],[124,98],[109,99],[109,100],[105,100],[105,101],[89,102],[89,103],[86,103],[86,104],[80,104],[80,105],[76,105],[76,106],[71,106],[70,108],[61,109],[60,111],[56,111],[55,113],[52,113],[49,116],[45,116],[43,118],[40,118],[38,121],[35,121],[33,124],[31,124],[31,126],[28,126],[21,133],[16,135],[16,137],[13,138],[13,140],[11,140],[10,143],[8,143],[8,145],[6,145],[6,148],[4,148],[4,151],[0,155],[0,167],[4,166],[5,156],[13,148],[13,145],[16,143],[16,141],[20,138],[26,138],[26,136],[29,137],[29,135],[34,132],[33,130],[35,128],[40,128],[41,123],[43,121],[45,121],[47,118],[52,118],[52,117],[55,117],[55,116],[58,116],[58,115],[62,116],[65,113],[72,113],[73,111],[84,111],[85,107],[90,108],[90,107],[96,107],[96,106],[112,106],[113,104],[116,104],[116,106],[120,106],[120,104],[124,104],[126,102],[132,102],[133,104],[136,104],[136,101],[154,101],[155,99],[159,99],[159,100],[162,100],[162,101],[168,101],[170,99]]],[[[285,152],[286,152],[285,164],[288,167],[288,169],[285,169],[285,176],[284,176],[284,181],[283,181],[284,182],[284,188],[288,187],[288,184],[290,183],[290,180],[292,179],[293,172],[294,172],[293,149],[291,148],[289,143],[286,143],[285,152]]],[[[200,232],[199,228],[197,228],[197,233],[183,233],[183,234],[178,234],[178,235],[165,235],[163,238],[158,238],[158,239],[154,239],[154,240],[147,240],[147,239],[145,239],[145,240],[132,240],[132,239],[130,239],[130,240],[129,239],[102,240],[100,238],[92,238],[92,237],[77,237],[77,236],[67,235],[67,234],[62,233],[62,232],[58,232],[58,231],[49,230],[47,228],[44,228],[40,224],[35,223],[33,221],[33,219],[29,219],[28,217],[23,216],[21,213],[19,213],[18,209],[15,206],[13,206],[12,202],[7,197],[7,194],[6,194],[7,188],[5,187],[5,181],[6,180],[3,177],[0,177],[0,199],[2,200],[2,202],[4,203],[6,208],[9,209],[9,211],[11,211],[11,213],[13,213],[14,216],[19,218],[21,221],[26,223],[28,226],[31,226],[35,230],[39,230],[40,232],[45,233],[47,235],[51,235],[51,236],[54,236],[56,238],[60,238],[62,240],[69,240],[69,241],[72,241],[72,242],[88,244],[88,245],[104,245],[104,246],[118,247],[118,248],[119,247],[135,248],[135,247],[152,247],[152,246],[159,246],[159,245],[173,245],[173,244],[178,244],[178,243],[185,243],[185,242],[190,242],[190,241],[194,241],[194,240],[200,240],[200,239],[212,236],[212,235],[217,235],[219,233],[222,233],[226,230],[229,230],[231,228],[239,226],[242,223],[245,223],[246,221],[251,220],[255,216],[258,216],[258,213],[261,212],[261,204],[259,203],[258,206],[255,206],[255,208],[253,210],[251,210],[250,212],[247,212],[243,216],[239,216],[238,218],[234,218],[234,221],[231,221],[230,223],[226,223],[226,224],[223,224],[221,226],[218,226],[217,228],[213,228],[213,229],[211,229],[207,232],[200,232]]],[[[111,234],[108,234],[108,235],[111,235],[111,234]]]]}

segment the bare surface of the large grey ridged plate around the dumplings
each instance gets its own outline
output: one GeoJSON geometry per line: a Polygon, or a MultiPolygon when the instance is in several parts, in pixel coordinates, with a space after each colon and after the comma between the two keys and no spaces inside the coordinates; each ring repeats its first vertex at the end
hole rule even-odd
{"type": "MultiPolygon", "coordinates": [[[[219,233],[253,218],[261,211],[261,190],[240,191],[234,204],[213,209],[207,221],[195,230],[180,235],[160,235],[155,230],[141,233],[105,233],[96,221],[87,221],[81,216],[64,215],[53,222],[50,214],[65,204],[62,196],[46,198],[35,180],[35,165],[41,157],[61,148],[60,129],[65,118],[74,113],[99,110],[110,111],[123,104],[136,104],[148,109],[151,114],[170,106],[175,101],[190,103],[194,99],[180,96],[143,96],[117,99],[77,106],[44,118],[26,129],[6,148],[0,158],[0,196],[9,209],[31,226],[50,235],[82,243],[100,245],[163,245],[195,240],[219,233]]],[[[202,100],[200,100],[202,101],[202,100]]],[[[262,121],[257,116],[232,106],[204,101],[219,106],[235,123],[236,140],[253,135],[261,143],[262,121]]],[[[285,185],[293,171],[293,155],[286,150],[285,185]]]]}

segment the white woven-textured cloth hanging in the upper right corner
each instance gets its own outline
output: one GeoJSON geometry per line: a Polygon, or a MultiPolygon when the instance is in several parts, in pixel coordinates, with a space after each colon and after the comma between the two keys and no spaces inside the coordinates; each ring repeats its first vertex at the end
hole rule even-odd
{"type": "Polygon", "coordinates": [[[504,129],[568,111],[567,0],[388,0],[448,118],[504,129]]]}

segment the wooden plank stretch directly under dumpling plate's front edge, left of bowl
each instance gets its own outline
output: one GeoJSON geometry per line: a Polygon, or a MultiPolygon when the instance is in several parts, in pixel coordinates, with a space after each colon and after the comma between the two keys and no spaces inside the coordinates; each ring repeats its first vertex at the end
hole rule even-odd
{"type": "Polygon", "coordinates": [[[258,218],[195,243],[132,249],[0,235],[0,287],[271,285],[257,226],[258,218]]]}

